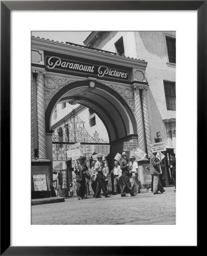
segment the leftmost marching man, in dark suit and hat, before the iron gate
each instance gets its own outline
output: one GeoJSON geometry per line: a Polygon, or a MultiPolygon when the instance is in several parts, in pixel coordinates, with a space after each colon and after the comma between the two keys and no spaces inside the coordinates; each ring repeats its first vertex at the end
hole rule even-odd
{"type": "Polygon", "coordinates": [[[85,199],[85,171],[88,170],[88,167],[85,164],[85,156],[80,156],[78,158],[79,164],[74,171],[76,174],[76,181],[77,181],[77,196],[78,200],[85,199]]]}

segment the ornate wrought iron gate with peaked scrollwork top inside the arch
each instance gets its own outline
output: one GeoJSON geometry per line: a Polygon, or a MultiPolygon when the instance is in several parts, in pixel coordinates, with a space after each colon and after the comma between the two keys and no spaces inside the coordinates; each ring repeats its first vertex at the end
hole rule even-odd
{"type": "MultiPolygon", "coordinates": [[[[107,141],[103,141],[103,139],[99,138],[99,134],[97,131],[94,132],[93,137],[86,131],[85,122],[78,117],[75,110],[73,109],[71,117],[67,121],[64,122],[63,125],[59,127],[52,134],[52,158],[53,163],[56,161],[67,162],[71,160],[68,158],[67,151],[69,150],[69,146],[71,144],[80,142],[81,147],[85,145],[109,145],[107,141]]],[[[86,156],[86,159],[89,160],[91,154],[83,154],[86,156]]],[[[103,154],[106,156],[107,154],[103,154]]],[[[72,161],[71,167],[74,166],[74,161],[72,161]]],[[[67,197],[76,195],[76,175],[73,171],[60,170],[61,176],[61,191],[60,195],[67,197]]]]}

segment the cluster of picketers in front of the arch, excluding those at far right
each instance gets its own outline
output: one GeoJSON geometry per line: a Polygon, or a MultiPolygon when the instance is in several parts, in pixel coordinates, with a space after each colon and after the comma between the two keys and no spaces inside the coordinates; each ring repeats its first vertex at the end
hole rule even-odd
{"type": "Polygon", "coordinates": [[[131,196],[135,196],[140,193],[140,184],[138,180],[138,163],[135,161],[135,157],[130,158],[133,163],[132,166],[127,163],[126,152],[122,153],[122,159],[118,163],[114,162],[114,168],[109,175],[109,168],[107,167],[107,161],[102,161],[102,156],[98,156],[97,161],[92,162],[92,167],[88,168],[86,164],[85,156],[80,156],[78,159],[78,165],[74,173],[76,174],[77,181],[77,196],[78,200],[86,199],[89,195],[89,183],[93,189],[94,197],[101,198],[101,190],[103,196],[110,197],[107,192],[108,177],[114,176],[114,195],[117,195],[117,188],[121,189],[121,196],[127,196],[129,192],[131,196]],[[120,166],[119,166],[120,164],[120,166]],[[129,173],[133,174],[133,182],[130,184],[129,173]],[[134,193],[134,185],[138,186],[138,191],[134,193]]]}

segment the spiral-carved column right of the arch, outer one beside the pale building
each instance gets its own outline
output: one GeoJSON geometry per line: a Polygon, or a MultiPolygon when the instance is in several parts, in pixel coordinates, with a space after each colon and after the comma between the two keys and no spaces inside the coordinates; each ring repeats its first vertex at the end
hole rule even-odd
{"type": "Polygon", "coordinates": [[[142,111],[143,111],[143,119],[144,119],[147,155],[150,156],[152,154],[152,151],[151,151],[152,141],[151,141],[150,119],[148,115],[146,90],[148,90],[148,88],[143,88],[142,90],[142,111]]]}

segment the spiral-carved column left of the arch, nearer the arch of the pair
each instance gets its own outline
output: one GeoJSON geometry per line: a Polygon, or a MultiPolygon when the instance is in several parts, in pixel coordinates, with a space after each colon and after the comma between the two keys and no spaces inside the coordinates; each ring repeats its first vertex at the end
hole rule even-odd
{"type": "Polygon", "coordinates": [[[39,159],[46,159],[46,135],[44,112],[44,71],[36,71],[36,100],[38,113],[38,149],[39,159]]]}

